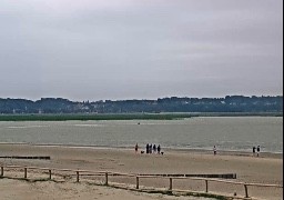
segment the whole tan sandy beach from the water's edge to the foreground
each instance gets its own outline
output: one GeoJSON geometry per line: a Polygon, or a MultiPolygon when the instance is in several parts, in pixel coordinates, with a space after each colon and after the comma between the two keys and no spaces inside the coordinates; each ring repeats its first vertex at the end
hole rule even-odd
{"type": "MultiPolygon", "coordinates": [[[[140,149],[141,150],[141,149],[140,149]]],[[[50,160],[27,160],[0,158],[2,166],[27,166],[57,169],[80,169],[91,171],[112,171],[121,173],[236,173],[232,181],[283,184],[283,154],[261,153],[253,157],[246,152],[217,152],[196,150],[169,150],[162,154],[141,154],[133,149],[103,149],[88,147],[55,147],[29,144],[0,144],[0,157],[8,156],[50,156],[50,160]]],[[[110,182],[124,181],[135,184],[134,178],[111,178],[110,182]],[[119,180],[120,179],[120,180],[119,180]]],[[[168,179],[145,179],[141,186],[169,188],[168,179]]],[[[193,180],[174,180],[173,189],[204,191],[204,183],[193,180]]],[[[212,182],[210,191],[217,193],[236,192],[244,197],[243,186],[212,182]]],[[[283,199],[283,188],[250,187],[250,197],[260,199],[283,199]]],[[[14,179],[0,179],[1,199],[191,199],[166,194],[150,194],[112,187],[93,186],[87,182],[75,183],[39,181],[27,182],[14,179]]],[[[205,199],[195,198],[192,199],[205,199]]]]}

